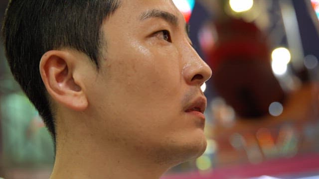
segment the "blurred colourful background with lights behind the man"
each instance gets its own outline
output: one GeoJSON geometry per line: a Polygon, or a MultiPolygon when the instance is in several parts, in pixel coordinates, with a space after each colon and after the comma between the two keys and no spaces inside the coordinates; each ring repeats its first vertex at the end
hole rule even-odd
{"type": "MultiPolygon", "coordinates": [[[[207,149],[163,179],[319,179],[319,0],[173,1],[213,76],[207,149]]],[[[0,178],[47,179],[53,152],[1,44],[0,178]]]]}

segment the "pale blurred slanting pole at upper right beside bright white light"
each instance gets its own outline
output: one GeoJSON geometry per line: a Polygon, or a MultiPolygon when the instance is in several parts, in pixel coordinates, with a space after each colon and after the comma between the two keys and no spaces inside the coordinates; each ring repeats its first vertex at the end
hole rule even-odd
{"type": "Polygon", "coordinates": [[[296,71],[304,69],[304,49],[299,31],[299,24],[292,0],[279,0],[282,18],[287,36],[288,48],[292,56],[292,65],[296,71]]]}

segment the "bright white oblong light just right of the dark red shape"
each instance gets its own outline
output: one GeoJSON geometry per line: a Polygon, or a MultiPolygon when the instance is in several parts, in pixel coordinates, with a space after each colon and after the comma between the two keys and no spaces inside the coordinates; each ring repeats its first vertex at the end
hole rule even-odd
{"type": "Polygon", "coordinates": [[[272,68],[276,75],[284,75],[287,65],[291,60],[291,54],[287,48],[277,48],[272,52],[272,68]]]}

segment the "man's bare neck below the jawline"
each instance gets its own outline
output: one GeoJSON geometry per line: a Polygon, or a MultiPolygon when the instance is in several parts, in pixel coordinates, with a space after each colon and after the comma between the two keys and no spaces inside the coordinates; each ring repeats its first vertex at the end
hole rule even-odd
{"type": "Polygon", "coordinates": [[[159,179],[171,167],[142,159],[125,146],[105,144],[84,131],[79,134],[58,134],[50,179],[159,179]]]}

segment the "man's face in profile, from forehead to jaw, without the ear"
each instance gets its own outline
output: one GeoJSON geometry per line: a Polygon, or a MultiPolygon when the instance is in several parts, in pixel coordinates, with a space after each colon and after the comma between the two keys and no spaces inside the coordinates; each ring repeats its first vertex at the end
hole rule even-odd
{"type": "Polygon", "coordinates": [[[191,47],[185,25],[171,0],[122,0],[105,20],[107,50],[98,74],[85,83],[94,132],[108,145],[158,162],[205,150],[200,86],[211,70],[191,47]]]}

